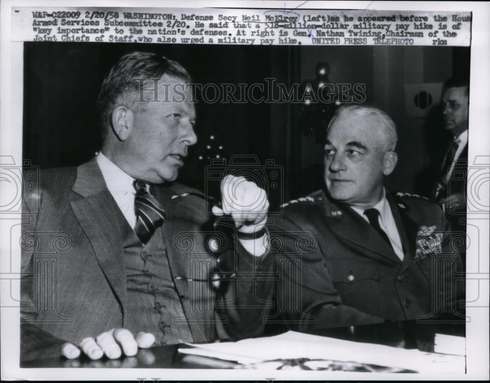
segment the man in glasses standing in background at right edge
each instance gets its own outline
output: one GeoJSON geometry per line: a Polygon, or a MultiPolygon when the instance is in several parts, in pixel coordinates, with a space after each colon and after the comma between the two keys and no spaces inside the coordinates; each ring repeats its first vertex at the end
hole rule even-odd
{"type": "MultiPolygon", "coordinates": [[[[451,225],[451,230],[463,233],[460,236],[464,238],[465,243],[468,107],[468,82],[456,78],[448,79],[444,83],[442,92],[442,113],[444,127],[451,134],[443,141],[444,150],[440,156],[432,199],[441,206],[451,225]]],[[[461,251],[463,261],[465,261],[465,254],[466,251],[463,249],[461,251]]]]}

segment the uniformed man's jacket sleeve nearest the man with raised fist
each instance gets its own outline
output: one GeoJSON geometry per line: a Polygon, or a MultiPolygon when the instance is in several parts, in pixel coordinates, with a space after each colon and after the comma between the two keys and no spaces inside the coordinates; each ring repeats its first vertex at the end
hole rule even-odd
{"type": "Polygon", "coordinates": [[[287,218],[277,219],[271,230],[271,250],[276,248],[273,268],[278,276],[274,288],[277,318],[298,331],[383,322],[342,304],[316,235],[287,218]]]}

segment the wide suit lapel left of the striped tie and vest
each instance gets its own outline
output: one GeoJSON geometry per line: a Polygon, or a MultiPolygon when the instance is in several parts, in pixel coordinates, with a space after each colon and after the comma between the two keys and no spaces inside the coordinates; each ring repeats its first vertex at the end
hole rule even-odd
{"type": "Polygon", "coordinates": [[[126,303],[126,275],[121,245],[121,225],[124,220],[118,205],[105,185],[94,158],[77,168],[73,192],[82,198],[71,202],[73,213],[89,239],[98,263],[123,308],[126,303]]]}

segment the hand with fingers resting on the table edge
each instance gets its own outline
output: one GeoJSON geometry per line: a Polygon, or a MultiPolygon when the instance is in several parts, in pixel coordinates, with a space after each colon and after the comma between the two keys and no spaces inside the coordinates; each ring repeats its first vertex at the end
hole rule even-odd
{"type": "Polygon", "coordinates": [[[104,354],[109,359],[117,359],[124,354],[127,357],[136,355],[139,348],[148,348],[155,342],[155,336],[149,332],[133,334],[126,329],[112,329],[102,332],[95,339],[85,338],[79,348],[72,343],[65,343],[61,346],[61,355],[68,359],[80,356],[81,351],[91,359],[100,359],[104,354]]]}

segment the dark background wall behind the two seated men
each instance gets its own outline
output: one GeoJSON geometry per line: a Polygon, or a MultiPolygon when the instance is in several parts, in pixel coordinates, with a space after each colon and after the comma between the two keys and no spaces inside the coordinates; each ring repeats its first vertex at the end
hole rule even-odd
{"type": "MultiPolygon", "coordinates": [[[[366,102],[385,110],[397,125],[399,163],[389,186],[421,194],[430,189],[430,169],[444,132],[439,100],[429,117],[410,117],[404,85],[469,76],[469,48],[25,43],[24,158],[41,168],[76,166],[90,159],[101,144],[95,102],[103,75],[121,55],[135,50],[177,60],[197,83],[251,84],[275,78],[289,86],[315,79],[316,64],[328,62],[330,82],[365,83],[366,102]]],[[[302,129],[299,107],[198,102],[198,143],[179,180],[204,190],[205,167],[216,154],[228,162],[232,154],[254,154],[262,164],[273,159],[284,170],[283,193],[270,190],[272,204],[317,189],[323,147],[302,129]]]]}

